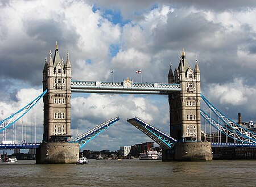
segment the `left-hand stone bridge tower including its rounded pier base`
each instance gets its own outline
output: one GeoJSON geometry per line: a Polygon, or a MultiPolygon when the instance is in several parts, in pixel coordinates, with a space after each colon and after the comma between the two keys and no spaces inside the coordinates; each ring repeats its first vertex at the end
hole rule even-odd
{"type": "Polygon", "coordinates": [[[43,143],[36,155],[36,163],[75,163],[79,156],[78,143],[71,138],[71,63],[60,58],[57,41],[55,54],[49,52],[44,64],[44,133],[43,143]]]}

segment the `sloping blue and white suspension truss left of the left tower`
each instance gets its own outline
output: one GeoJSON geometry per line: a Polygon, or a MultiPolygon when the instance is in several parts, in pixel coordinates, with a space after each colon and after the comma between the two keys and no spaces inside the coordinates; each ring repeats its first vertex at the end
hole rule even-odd
{"type": "Polygon", "coordinates": [[[5,130],[6,128],[9,128],[9,126],[13,125],[16,121],[18,121],[24,114],[26,114],[32,107],[34,107],[35,104],[38,103],[40,99],[47,93],[47,90],[45,90],[42,94],[40,94],[36,99],[31,101],[29,104],[26,105],[26,107],[23,107],[18,112],[14,113],[13,115],[7,117],[5,120],[0,122],[0,132],[2,130],[5,130]]]}

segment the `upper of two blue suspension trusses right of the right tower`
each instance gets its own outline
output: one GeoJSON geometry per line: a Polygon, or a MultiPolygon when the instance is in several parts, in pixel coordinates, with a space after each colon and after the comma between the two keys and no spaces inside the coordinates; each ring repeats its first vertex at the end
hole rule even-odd
{"type": "Polygon", "coordinates": [[[216,107],[214,107],[214,105],[212,103],[210,103],[202,94],[201,94],[201,98],[203,99],[205,104],[208,105],[210,110],[222,122],[224,122],[226,128],[229,128],[230,130],[234,130],[234,131],[236,131],[236,134],[242,134],[243,137],[250,138],[251,140],[253,140],[256,143],[256,133],[244,128],[243,126],[241,126],[241,125],[237,124],[236,122],[234,122],[233,120],[231,120],[229,117],[225,116],[224,113],[220,112],[216,107]]]}

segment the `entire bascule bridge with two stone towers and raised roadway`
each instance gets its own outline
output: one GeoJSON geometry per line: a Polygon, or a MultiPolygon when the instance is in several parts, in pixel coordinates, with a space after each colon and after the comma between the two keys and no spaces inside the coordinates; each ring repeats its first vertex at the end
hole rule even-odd
{"type": "Polygon", "coordinates": [[[79,157],[79,149],[119,120],[110,119],[96,126],[75,139],[71,139],[71,93],[105,93],[105,94],[155,94],[168,95],[170,106],[170,135],[147,124],[138,117],[127,120],[163,148],[163,160],[212,160],[211,147],[255,147],[256,134],[236,124],[218,111],[200,90],[200,70],[198,61],[191,69],[181,53],[179,66],[173,71],[170,65],[168,83],[134,83],[129,78],[122,82],[81,81],[71,79],[71,62],[69,53],[67,61],[60,58],[56,43],[52,59],[45,61],[43,69],[44,92],[26,107],[1,121],[0,131],[13,125],[20,116],[27,113],[40,98],[44,101],[43,142],[13,145],[1,145],[2,148],[36,147],[36,163],[74,163],[79,157]],[[224,122],[201,110],[201,99],[209,109],[224,122]],[[221,144],[220,142],[203,142],[201,139],[201,116],[209,124],[240,144],[221,144]]]}

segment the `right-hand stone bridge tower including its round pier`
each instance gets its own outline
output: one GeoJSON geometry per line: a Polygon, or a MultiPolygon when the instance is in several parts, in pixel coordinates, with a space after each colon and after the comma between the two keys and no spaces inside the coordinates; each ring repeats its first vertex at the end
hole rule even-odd
{"type": "Polygon", "coordinates": [[[170,65],[168,83],[179,83],[180,92],[168,95],[170,106],[170,134],[177,139],[175,160],[212,160],[211,146],[201,142],[200,70],[196,58],[195,69],[189,66],[184,49],[174,74],[170,65]]]}

